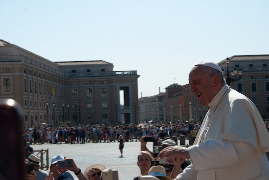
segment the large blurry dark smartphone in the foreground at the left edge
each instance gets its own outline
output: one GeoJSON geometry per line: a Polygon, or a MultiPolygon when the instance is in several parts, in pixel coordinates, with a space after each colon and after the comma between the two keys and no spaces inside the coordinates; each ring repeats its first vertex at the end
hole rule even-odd
{"type": "Polygon", "coordinates": [[[0,145],[4,146],[0,148],[0,175],[6,180],[25,180],[21,106],[12,99],[0,99],[0,122],[0,145]]]}

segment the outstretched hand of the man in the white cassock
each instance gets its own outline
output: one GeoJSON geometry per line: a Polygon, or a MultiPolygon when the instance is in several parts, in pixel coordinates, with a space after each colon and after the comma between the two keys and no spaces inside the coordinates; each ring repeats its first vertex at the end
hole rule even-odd
{"type": "Polygon", "coordinates": [[[190,159],[188,148],[181,146],[167,147],[158,154],[157,158],[167,157],[167,161],[171,159],[190,159]]]}

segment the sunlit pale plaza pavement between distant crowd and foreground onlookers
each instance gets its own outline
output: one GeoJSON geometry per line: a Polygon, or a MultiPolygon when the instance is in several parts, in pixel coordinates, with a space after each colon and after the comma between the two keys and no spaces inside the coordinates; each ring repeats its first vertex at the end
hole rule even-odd
{"type": "MultiPolygon", "coordinates": [[[[178,143],[179,140],[178,140],[178,143]]],[[[188,143],[188,142],[186,142],[188,143]]],[[[147,143],[147,148],[152,151],[152,142],[147,143]]],[[[125,142],[123,158],[119,150],[119,143],[85,143],[85,144],[42,144],[30,145],[33,150],[49,149],[49,164],[53,156],[61,154],[66,158],[72,158],[77,167],[84,173],[89,166],[102,164],[106,168],[112,168],[119,173],[119,180],[133,180],[140,175],[137,166],[137,156],[140,152],[140,142],[125,142]]],[[[37,154],[37,152],[35,152],[37,154]]],[[[44,156],[44,163],[45,163],[44,156]]],[[[49,165],[50,166],[50,165],[49,165]]],[[[46,170],[45,170],[46,171],[46,170]]],[[[49,169],[47,170],[49,172],[49,169]]],[[[77,178],[73,172],[70,172],[77,178]]]]}

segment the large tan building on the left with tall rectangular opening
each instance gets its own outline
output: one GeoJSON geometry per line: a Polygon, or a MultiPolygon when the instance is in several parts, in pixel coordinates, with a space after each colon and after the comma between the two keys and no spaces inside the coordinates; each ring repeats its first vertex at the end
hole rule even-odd
{"type": "Polygon", "coordinates": [[[3,40],[0,45],[0,98],[21,104],[24,125],[139,121],[136,71],[113,71],[102,60],[52,62],[3,40]]]}

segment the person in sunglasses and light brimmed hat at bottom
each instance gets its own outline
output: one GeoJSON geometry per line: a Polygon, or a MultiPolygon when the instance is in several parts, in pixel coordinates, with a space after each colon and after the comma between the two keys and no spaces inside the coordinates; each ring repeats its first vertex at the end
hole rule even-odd
{"type": "Polygon", "coordinates": [[[85,170],[84,175],[89,180],[100,180],[101,173],[106,169],[104,165],[93,165],[85,170]]]}

